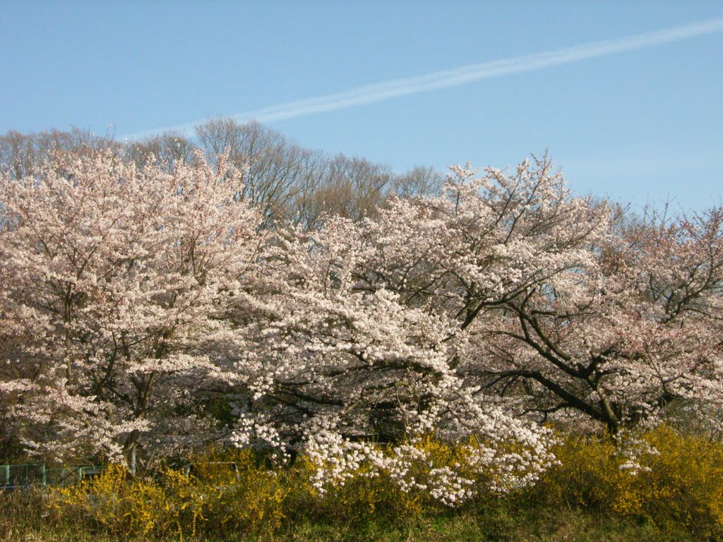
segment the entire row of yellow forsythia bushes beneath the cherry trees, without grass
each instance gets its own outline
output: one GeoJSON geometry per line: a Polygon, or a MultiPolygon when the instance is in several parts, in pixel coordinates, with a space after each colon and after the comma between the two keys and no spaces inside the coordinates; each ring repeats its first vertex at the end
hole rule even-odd
{"type": "MultiPolygon", "coordinates": [[[[415,446],[444,466],[464,463],[471,444],[450,446],[429,438],[415,446]]],[[[508,504],[522,499],[541,509],[599,510],[649,522],[681,538],[723,539],[723,443],[661,426],[643,435],[640,444],[636,468],[630,468],[630,457],[609,436],[561,438],[555,450],[559,464],[534,488],[503,499],[508,504]]],[[[318,465],[305,455],[275,469],[253,452],[239,450],[212,450],[191,463],[189,474],[162,468],[147,478],[134,478],[111,465],[93,480],[52,489],[53,517],[65,525],[128,538],[185,540],[229,532],[273,538],[282,525],[320,518],[349,525],[363,524],[372,515],[396,521],[449,512],[429,491],[402,491],[388,476],[365,473],[364,465],[360,476],[320,494],[312,483],[318,465]]],[[[423,480],[423,467],[411,464],[410,474],[423,480]]],[[[479,491],[469,505],[485,509],[503,504],[500,499],[479,491]]]]}

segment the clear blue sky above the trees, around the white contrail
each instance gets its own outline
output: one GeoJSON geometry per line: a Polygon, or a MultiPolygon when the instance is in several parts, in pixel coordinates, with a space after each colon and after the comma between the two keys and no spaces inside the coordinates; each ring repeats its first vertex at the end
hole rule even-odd
{"type": "MultiPolygon", "coordinates": [[[[720,1],[0,4],[0,132],[119,136],[723,17],[720,1]]],[[[723,199],[722,97],[714,31],[268,124],[396,171],[549,148],[575,192],[701,210],[723,199]]]]}

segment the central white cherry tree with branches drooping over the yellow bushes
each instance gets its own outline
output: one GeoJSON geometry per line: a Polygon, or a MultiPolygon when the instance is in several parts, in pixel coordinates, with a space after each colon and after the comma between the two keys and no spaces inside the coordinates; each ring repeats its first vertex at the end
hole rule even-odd
{"type": "Polygon", "coordinates": [[[476,491],[470,473],[497,491],[531,483],[553,460],[549,431],[458,375],[466,337],[455,319],[363,279],[375,225],[337,217],[287,232],[267,255],[265,286],[234,299],[239,342],[226,351],[239,353],[244,385],[232,442],[304,449],[322,491],[361,467],[448,504],[476,491]],[[429,436],[470,443],[460,472],[435,463],[429,436]]]}

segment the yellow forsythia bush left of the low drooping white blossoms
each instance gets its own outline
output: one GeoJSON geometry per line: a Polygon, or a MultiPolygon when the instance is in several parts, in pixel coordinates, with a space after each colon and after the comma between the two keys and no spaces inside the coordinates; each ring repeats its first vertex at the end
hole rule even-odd
{"type": "Polygon", "coordinates": [[[134,537],[182,539],[278,528],[289,493],[284,473],[257,465],[249,452],[216,459],[195,458],[189,476],[162,468],[153,478],[132,478],[121,466],[109,465],[93,480],[54,489],[52,503],[61,521],[91,522],[108,533],[134,537]]]}

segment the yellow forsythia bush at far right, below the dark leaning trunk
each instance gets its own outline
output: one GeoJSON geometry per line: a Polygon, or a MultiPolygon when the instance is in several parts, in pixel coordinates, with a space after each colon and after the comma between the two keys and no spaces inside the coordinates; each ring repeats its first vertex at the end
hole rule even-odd
{"type": "Polygon", "coordinates": [[[560,465],[534,489],[537,499],[638,517],[667,533],[723,535],[723,443],[660,426],[643,435],[652,452],[626,468],[606,436],[568,436],[555,450],[560,465]]]}

